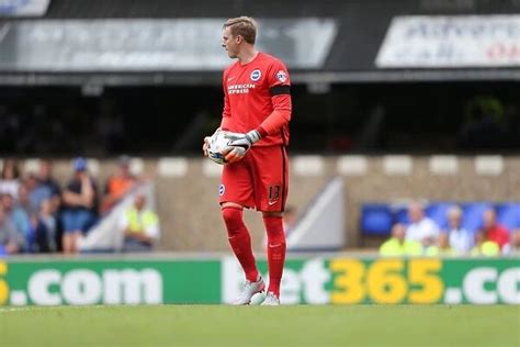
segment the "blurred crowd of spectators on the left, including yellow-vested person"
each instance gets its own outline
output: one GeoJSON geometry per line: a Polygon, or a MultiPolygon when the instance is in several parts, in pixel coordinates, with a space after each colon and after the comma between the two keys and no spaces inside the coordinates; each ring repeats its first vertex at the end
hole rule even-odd
{"type": "MultiPolygon", "coordinates": [[[[54,178],[47,159],[29,172],[21,172],[16,160],[5,159],[0,175],[0,256],[77,253],[78,239],[140,182],[131,174],[126,156],[103,191],[81,157],[74,160],[65,186],[54,178]]],[[[151,250],[158,237],[157,215],[145,209],[145,197],[137,194],[135,200],[121,217],[124,250],[151,250]]]]}

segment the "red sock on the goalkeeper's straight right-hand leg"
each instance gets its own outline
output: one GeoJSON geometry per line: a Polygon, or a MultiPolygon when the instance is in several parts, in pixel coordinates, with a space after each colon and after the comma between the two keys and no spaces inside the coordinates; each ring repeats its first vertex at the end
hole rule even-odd
{"type": "Polygon", "coordinates": [[[285,262],[285,233],[282,216],[263,216],[268,233],[269,289],[280,298],[283,264],[285,262]]]}

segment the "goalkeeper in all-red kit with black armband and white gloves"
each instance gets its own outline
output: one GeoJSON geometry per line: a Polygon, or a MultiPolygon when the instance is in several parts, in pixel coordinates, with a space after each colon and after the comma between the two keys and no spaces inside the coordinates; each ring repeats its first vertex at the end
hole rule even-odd
{"type": "MultiPolygon", "coordinates": [[[[224,111],[221,123],[229,132],[223,152],[219,203],[229,245],[240,262],[246,282],[235,304],[249,304],[265,290],[244,224],[244,208],[262,212],[268,235],[269,287],[264,305],[280,304],[280,282],[285,261],[282,212],[287,197],[291,80],[285,65],[255,47],[257,24],[247,16],[229,19],[223,26],[223,44],[237,59],[223,76],[224,111]]],[[[203,152],[207,156],[208,137],[203,152]]]]}

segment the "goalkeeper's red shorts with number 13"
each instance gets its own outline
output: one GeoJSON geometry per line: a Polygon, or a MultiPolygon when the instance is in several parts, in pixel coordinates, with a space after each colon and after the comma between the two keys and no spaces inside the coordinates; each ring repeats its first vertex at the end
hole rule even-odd
{"type": "Polygon", "coordinates": [[[221,204],[235,202],[258,211],[283,212],[289,191],[289,160],[283,146],[252,147],[227,164],[218,189],[221,204]]]}

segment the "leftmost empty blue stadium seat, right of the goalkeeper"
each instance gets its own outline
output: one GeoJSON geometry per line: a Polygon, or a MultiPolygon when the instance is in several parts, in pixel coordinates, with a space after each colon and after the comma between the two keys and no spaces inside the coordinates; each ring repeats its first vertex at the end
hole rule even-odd
{"type": "Polygon", "coordinates": [[[393,219],[386,204],[363,204],[361,208],[361,232],[364,235],[389,235],[393,219]]]}

